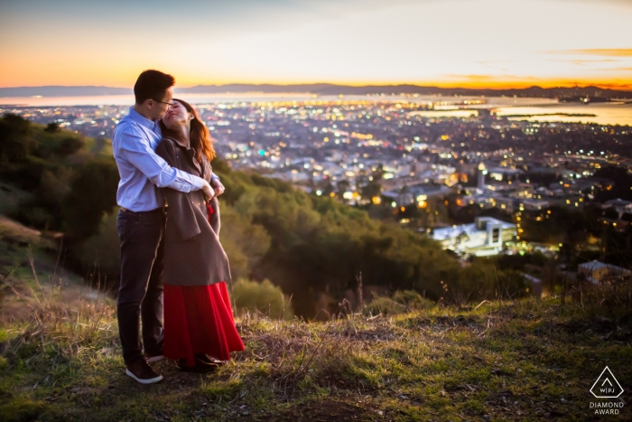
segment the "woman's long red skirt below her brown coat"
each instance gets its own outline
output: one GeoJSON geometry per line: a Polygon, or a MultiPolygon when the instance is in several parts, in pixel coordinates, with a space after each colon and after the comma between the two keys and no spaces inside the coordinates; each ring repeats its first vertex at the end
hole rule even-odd
{"type": "Polygon", "coordinates": [[[228,361],[230,352],[244,350],[226,283],[210,286],[164,285],[164,357],[186,359],[205,353],[228,361]]]}

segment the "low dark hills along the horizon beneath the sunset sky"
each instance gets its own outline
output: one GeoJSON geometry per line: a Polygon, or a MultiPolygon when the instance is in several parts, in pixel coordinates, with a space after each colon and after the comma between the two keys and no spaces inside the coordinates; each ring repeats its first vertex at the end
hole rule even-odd
{"type": "MultiPolygon", "coordinates": [[[[316,95],[370,95],[370,94],[421,94],[421,95],[462,95],[462,96],[517,96],[539,98],[573,98],[590,96],[591,98],[632,98],[632,91],[600,89],[598,87],[585,88],[540,88],[526,89],[466,89],[466,88],[438,88],[419,85],[367,85],[351,87],[348,85],[334,85],[330,83],[273,85],[273,84],[228,84],[228,85],[198,85],[191,88],[175,89],[182,94],[225,94],[260,92],[266,94],[310,93],[316,95]]],[[[86,97],[95,95],[124,95],[131,94],[132,89],[109,87],[19,87],[0,88],[2,97],[86,97]]]]}

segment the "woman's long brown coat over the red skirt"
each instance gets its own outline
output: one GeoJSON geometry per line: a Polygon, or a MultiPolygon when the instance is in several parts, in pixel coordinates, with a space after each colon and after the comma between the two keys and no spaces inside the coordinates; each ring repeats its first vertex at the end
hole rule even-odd
{"type": "MultiPolygon", "coordinates": [[[[206,156],[198,163],[194,150],[165,137],[156,154],[167,164],[210,182],[211,168],[206,156]]],[[[219,243],[219,203],[210,201],[211,221],[201,191],[179,192],[162,188],[167,202],[164,230],[163,280],[172,286],[207,286],[230,279],[228,257],[219,243]]]]}

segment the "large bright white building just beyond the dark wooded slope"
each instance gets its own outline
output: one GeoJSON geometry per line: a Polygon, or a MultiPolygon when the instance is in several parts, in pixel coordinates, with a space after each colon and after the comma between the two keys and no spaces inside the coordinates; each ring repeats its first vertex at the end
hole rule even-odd
{"type": "Polygon", "coordinates": [[[443,249],[477,257],[499,254],[505,242],[515,236],[516,224],[491,217],[478,217],[471,224],[435,229],[432,232],[432,239],[439,241],[443,249]]]}

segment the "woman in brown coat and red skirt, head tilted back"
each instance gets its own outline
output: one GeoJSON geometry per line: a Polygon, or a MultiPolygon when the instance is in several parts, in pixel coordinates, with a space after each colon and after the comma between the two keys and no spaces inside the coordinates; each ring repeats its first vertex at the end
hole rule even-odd
{"type": "MultiPolygon", "coordinates": [[[[210,182],[215,156],[197,112],[173,99],[161,120],[156,153],[172,167],[210,182]]],[[[243,351],[228,298],[228,257],[219,243],[219,205],[201,191],[161,189],[167,203],[164,231],[164,356],[181,370],[205,372],[243,351]]]]}

